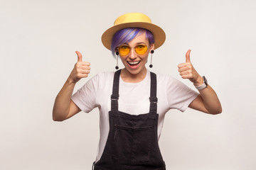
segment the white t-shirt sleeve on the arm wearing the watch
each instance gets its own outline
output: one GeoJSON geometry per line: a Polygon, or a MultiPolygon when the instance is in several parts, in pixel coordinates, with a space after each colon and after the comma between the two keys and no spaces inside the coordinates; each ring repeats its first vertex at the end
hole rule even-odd
{"type": "Polygon", "coordinates": [[[179,111],[186,111],[189,104],[198,96],[198,92],[183,84],[181,81],[169,78],[167,84],[167,100],[169,108],[176,108],[179,111]]]}

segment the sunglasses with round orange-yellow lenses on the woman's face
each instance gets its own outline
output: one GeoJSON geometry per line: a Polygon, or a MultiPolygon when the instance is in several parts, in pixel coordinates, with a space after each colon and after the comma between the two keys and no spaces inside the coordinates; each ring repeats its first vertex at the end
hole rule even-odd
{"type": "Polygon", "coordinates": [[[136,47],[129,47],[129,45],[120,45],[119,47],[117,47],[117,50],[119,52],[119,55],[125,56],[125,55],[129,55],[132,48],[134,48],[135,52],[138,55],[144,55],[146,53],[146,51],[148,50],[148,47],[143,44],[137,45],[136,47]]]}

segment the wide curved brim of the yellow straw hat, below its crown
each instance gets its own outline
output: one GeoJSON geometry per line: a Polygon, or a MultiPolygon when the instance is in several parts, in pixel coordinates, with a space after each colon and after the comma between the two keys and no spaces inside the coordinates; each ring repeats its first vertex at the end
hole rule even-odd
{"type": "Polygon", "coordinates": [[[107,29],[102,34],[102,44],[108,49],[111,50],[112,38],[118,30],[122,30],[124,28],[144,28],[149,30],[154,35],[154,48],[158,48],[164,44],[166,40],[166,34],[164,30],[159,26],[154,25],[153,23],[145,23],[145,22],[134,22],[134,23],[122,23],[117,26],[112,26],[107,29]]]}

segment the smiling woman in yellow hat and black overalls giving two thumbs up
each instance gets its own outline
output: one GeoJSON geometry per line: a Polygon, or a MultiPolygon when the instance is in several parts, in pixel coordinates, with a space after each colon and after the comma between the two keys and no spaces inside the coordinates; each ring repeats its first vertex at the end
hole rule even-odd
{"type": "Polygon", "coordinates": [[[158,145],[165,113],[171,108],[185,111],[188,107],[221,113],[215,91],[191,64],[190,50],[186,62],[178,64],[178,72],[193,82],[199,94],[172,77],[146,69],[149,53],[152,57],[164,41],[164,30],[151,23],[148,16],[119,16],[103,33],[102,43],[120,57],[124,69],[97,74],[73,94],[76,82],[90,73],[90,63],[82,62],[82,55],[76,52],[78,62],[55,99],[53,120],[99,108],[100,143],[95,169],[166,169],[158,145]]]}

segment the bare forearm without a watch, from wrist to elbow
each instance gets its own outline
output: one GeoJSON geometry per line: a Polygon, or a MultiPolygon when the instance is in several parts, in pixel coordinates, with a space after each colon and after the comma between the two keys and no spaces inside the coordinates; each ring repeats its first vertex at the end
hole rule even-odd
{"type": "Polygon", "coordinates": [[[63,88],[55,98],[53,106],[53,120],[61,121],[67,118],[70,111],[70,98],[73,94],[74,87],[75,83],[71,82],[69,79],[65,81],[63,88]]]}

